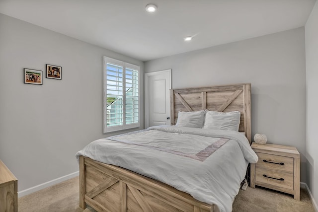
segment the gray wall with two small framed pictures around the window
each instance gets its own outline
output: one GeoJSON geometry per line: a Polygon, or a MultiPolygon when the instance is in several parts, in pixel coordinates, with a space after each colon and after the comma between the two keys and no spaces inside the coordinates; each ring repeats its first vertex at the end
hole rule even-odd
{"type": "Polygon", "coordinates": [[[78,171],[76,152],[115,134],[102,134],[102,56],[141,67],[144,111],[143,62],[0,14],[0,159],[19,191],[78,171]],[[46,64],[62,80],[23,83],[23,68],[45,76],[46,64]]]}

